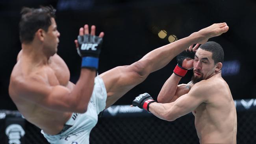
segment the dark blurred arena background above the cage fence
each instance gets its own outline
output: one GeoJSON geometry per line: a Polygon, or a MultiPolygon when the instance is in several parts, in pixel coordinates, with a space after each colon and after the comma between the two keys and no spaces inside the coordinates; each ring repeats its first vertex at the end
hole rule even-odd
{"type": "MultiPolygon", "coordinates": [[[[8,95],[9,77],[21,50],[20,9],[52,5],[61,33],[58,54],[67,63],[76,83],[81,59],[74,39],[84,24],[105,32],[99,74],[120,65],[130,65],[145,54],[182,39],[213,23],[226,22],[229,31],[211,38],[224,49],[223,78],[234,99],[256,97],[255,0],[1,0],[0,1],[0,109],[16,110],[8,95]]],[[[173,73],[176,59],[130,90],[116,105],[128,105],[138,94],[156,99],[165,80],[173,73]]],[[[190,81],[192,72],[180,83],[190,81]]]]}

